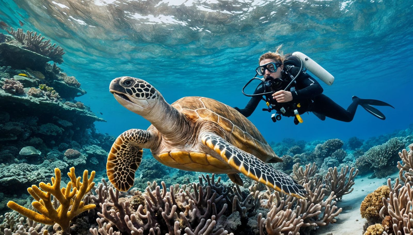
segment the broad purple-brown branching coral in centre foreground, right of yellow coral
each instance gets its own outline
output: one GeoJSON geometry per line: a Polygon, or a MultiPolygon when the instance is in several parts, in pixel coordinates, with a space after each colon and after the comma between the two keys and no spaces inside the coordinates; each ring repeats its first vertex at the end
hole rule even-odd
{"type": "MultiPolygon", "coordinates": [[[[229,193],[230,190],[219,185],[220,179],[216,184],[210,184],[209,176],[207,178],[204,177],[206,183],[201,180],[200,184],[176,184],[170,186],[169,191],[163,181],[162,189],[154,182],[148,184],[145,193],[137,191],[131,198],[119,198],[119,191],[114,192],[111,187],[107,189],[108,185],[102,183],[96,189],[98,195],[92,199],[102,207],[102,213],[98,215],[109,223],[102,224],[103,221],[97,219],[99,228],[91,228],[90,232],[94,235],[115,233],[110,227],[116,226],[122,234],[131,235],[144,232],[153,235],[177,235],[183,232],[188,235],[226,235],[228,231],[224,228],[215,232],[212,229],[228,208],[226,199],[217,191],[229,193]],[[103,200],[105,202],[102,203],[103,200]]],[[[237,197],[234,195],[233,211],[237,210],[237,204],[241,206],[237,197]]]]}

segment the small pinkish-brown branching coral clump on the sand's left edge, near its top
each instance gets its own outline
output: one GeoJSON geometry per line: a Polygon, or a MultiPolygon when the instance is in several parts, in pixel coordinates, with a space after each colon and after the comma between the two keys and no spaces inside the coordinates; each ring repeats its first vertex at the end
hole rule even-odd
{"type": "Polygon", "coordinates": [[[349,172],[349,166],[346,166],[346,169],[341,168],[340,174],[337,172],[337,168],[329,168],[327,175],[325,176],[325,193],[330,194],[334,192],[337,200],[341,200],[343,195],[349,194],[353,191],[354,188],[351,186],[354,185],[354,178],[358,174],[358,170],[354,171],[354,167],[351,168],[349,172],[349,176],[347,173],[349,172]],[[346,182],[347,181],[347,182],[346,182]]]}

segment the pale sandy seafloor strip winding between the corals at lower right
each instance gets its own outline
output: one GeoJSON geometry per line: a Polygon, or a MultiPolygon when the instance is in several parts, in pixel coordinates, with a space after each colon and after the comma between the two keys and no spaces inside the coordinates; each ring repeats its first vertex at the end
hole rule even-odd
{"type": "MultiPolygon", "coordinates": [[[[396,166],[394,166],[397,168],[396,166]]],[[[354,190],[344,195],[342,200],[336,205],[343,208],[343,211],[337,216],[336,223],[330,223],[328,226],[321,226],[318,228],[317,235],[357,235],[363,234],[363,225],[366,219],[361,218],[360,205],[367,194],[372,193],[378,187],[386,184],[387,179],[395,179],[399,177],[399,171],[387,176],[386,178],[368,179],[371,174],[356,177],[352,188],[354,190]]]]}

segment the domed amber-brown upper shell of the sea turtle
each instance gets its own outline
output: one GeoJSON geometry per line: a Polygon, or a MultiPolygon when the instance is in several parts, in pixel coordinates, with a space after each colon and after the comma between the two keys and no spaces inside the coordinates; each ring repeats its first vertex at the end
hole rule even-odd
{"type": "Polygon", "coordinates": [[[183,97],[172,106],[185,114],[188,119],[211,121],[235,138],[229,138],[235,147],[242,149],[263,162],[282,162],[259,130],[244,115],[217,100],[198,96],[183,97]]]}

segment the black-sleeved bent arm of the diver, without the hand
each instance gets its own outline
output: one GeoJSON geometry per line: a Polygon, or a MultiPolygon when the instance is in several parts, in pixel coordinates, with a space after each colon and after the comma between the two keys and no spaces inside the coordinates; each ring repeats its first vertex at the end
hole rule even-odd
{"type": "MultiPolygon", "coordinates": [[[[298,67],[293,67],[291,73],[297,74],[299,71],[298,67]]],[[[295,75],[294,75],[295,76],[295,75]]],[[[316,79],[313,79],[308,73],[301,72],[300,76],[297,78],[297,82],[304,84],[305,88],[298,91],[291,91],[292,99],[306,99],[313,98],[316,95],[323,93],[323,88],[320,86],[316,79]]]]}

